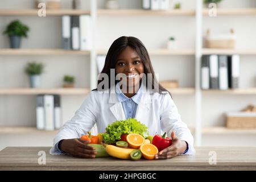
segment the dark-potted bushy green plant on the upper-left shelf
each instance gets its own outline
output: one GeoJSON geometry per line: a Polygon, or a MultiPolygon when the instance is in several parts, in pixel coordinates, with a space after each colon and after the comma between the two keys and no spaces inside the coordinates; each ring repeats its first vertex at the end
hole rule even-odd
{"type": "Polygon", "coordinates": [[[8,24],[3,34],[7,34],[9,36],[11,48],[19,48],[20,40],[22,37],[27,38],[28,30],[29,28],[25,24],[22,24],[19,20],[14,20],[8,24]]]}

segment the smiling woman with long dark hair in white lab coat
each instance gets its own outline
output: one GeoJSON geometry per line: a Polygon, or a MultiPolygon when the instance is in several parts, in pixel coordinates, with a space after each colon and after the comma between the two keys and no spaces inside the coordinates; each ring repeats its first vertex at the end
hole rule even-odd
{"type": "MultiPolygon", "coordinates": [[[[148,127],[150,135],[167,133],[172,138],[171,146],[156,155],[154,153],[150,159],[195,154],[192,134],[181,121],[171,94],[156,80],[147,49],[141,40],[122,36],[109,48],[97,89],[90,92],[71,121],[61,128],[50,153],[95,158],[95,148],[87,144],[88,140],[81,140],[81,135],[88,133],[96,124],[98,133],[105,133],[105,142],[112,144],[122,134],[131,134],[126,132],[131,128],[114,127],[110,131],[109,127],[115,121],[123,124],[136,119],[143,124],[140,126],[148,127]],[[107,140],[113,136],[117,138],[107,140]]],[[[138,134],[141,129],[134,129],[134,133],[138,134]]],[[[129,139],[127,142],[133,143],[129,139]]]]}

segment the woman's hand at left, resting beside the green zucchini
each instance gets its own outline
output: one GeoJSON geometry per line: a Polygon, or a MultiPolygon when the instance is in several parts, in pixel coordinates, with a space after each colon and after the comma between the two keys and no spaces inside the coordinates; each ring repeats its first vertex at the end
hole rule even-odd
{"type": "Polygon", "coordinates": [[[60,142],[60,150],[76,158],[95,158],[97,154],[94,147],[88,146],[88,141],[79,138],[63,139],[60,142]]]}

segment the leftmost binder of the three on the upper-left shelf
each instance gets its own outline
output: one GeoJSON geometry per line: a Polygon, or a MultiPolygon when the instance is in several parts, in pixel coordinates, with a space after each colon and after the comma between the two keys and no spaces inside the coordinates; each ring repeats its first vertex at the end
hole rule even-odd
{"type": "Polygon", "coordinates": [[[62,16],[62,38],[63,48],[71,49],[71,18],[68,15],[62,16]]]}

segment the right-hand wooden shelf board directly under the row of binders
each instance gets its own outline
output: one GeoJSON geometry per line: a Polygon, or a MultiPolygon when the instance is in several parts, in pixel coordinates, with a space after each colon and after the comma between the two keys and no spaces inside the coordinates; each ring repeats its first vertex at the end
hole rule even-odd
{"type": "Polygon", "coordinates": [[[204,94],[230,94],[230,95],[249,95],[256,94],[256,88],[239,88],[228,90],[202,90],[204,94]]]}

